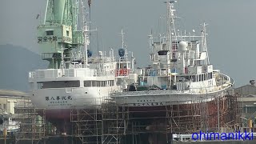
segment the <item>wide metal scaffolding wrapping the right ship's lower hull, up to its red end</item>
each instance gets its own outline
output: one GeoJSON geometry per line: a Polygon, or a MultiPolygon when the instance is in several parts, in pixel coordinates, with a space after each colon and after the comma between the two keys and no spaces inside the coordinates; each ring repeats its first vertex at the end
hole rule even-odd
{"type": "MultiPolygon", "coordinates": [[[[170,143],[173,135],[199,131],[216,132],[238,124],[238,101],[234,95],[190,98],[186,102],[158,102],[158,106],[132,106],[123,98],[118,105],[102,98],[101,105],[71,110],[73,136],[82,143],[170,143]]],[[[180,137],[180,136],[179,136],[180,137]]]]}

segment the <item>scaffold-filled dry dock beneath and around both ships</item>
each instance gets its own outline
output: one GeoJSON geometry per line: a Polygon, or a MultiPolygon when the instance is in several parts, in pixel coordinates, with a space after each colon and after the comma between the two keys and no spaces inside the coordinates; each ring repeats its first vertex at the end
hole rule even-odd
{"type": "MultiPolygon", "coordinates": [[[[31,142],[47,144],[190,143],[191,138],[173,138],[173,134],[192,134],[200,130],[213,132],[238,130],[241,119],[238,98],[238,94],[230,92],[229,95],[216,98],[214,102],[204,102],[202,99],[202,102],[190,104],[190,106],[170,104],[165,110],[151,112],[133,111],[127,105],[118,106],[110,100],[102,100],[104,104],[93,106],[95,107],[93,110],[73,107],[70,110],[70,130],[67,130],[66,134],[60,134],[52,124],[47,122],[45,110],[35,108],[30,102],[24,102],[15,108],[18,120],[22,123],[13,142],[21,144],[31,142]],[[41,114],[39,115],[37,111],[41,111],[41,114]]],[[[254,141],[242,143],[250,144],[251,142],[254,141]]]]}

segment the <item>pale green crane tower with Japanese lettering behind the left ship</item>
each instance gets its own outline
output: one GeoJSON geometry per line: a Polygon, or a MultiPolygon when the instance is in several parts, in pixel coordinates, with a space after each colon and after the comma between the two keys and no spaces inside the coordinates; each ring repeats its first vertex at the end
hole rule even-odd
{"type": "Polygon", "coordinates": [[[49,69],[67,68],[70,50],[84,45],[83,30],[78,30],[79,0],[47,0],[44,22],[38,26],[38,44],[49,69]]]}

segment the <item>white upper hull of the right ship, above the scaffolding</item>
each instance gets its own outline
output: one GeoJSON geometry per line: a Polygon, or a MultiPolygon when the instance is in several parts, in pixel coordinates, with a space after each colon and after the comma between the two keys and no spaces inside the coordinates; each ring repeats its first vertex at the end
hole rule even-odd
{"type": "MultiPolygon", "coordinates": [[[[225,89],[226,90],[226,89],[225,89]]],[[[199,102],[210,102],[214,98],[226,95],[225,90],[218,90],[208,94],[194,94],[189,91],[170,91],[170,90],[151,90],[151,91],[134,91],[130,95],[125,92],[122,95],[111,95],[119,105],[124,106],[169,106],[192,104],[199,102]]]]}

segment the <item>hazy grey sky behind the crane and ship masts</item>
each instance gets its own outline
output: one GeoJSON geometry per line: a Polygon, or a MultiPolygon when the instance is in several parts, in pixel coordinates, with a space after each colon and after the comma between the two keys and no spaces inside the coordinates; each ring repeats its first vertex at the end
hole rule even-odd
{"type": "MultiPolygon", "coordinates": [[[[157,34],[166,15],[164,0],[92,0],[92,38],[98,34],[92,50],[118,50],[122,46],[121,30],[126,46],[134,52],[138,66],[149,61],[148,35],[157,34]]],[[[181,27],[199,31],[206,22],[210,63],[215,69],[234,78],[235,86],[256,79],[255,0],[178,0],[176,10],[181,27]]],[[[46,8],[46,0],[2,0],[0,5],[0,45],[22,46],[38,53],[36,27],[46,8]],[[37,14],[41,17],[36,19],[37,14]]]]}

